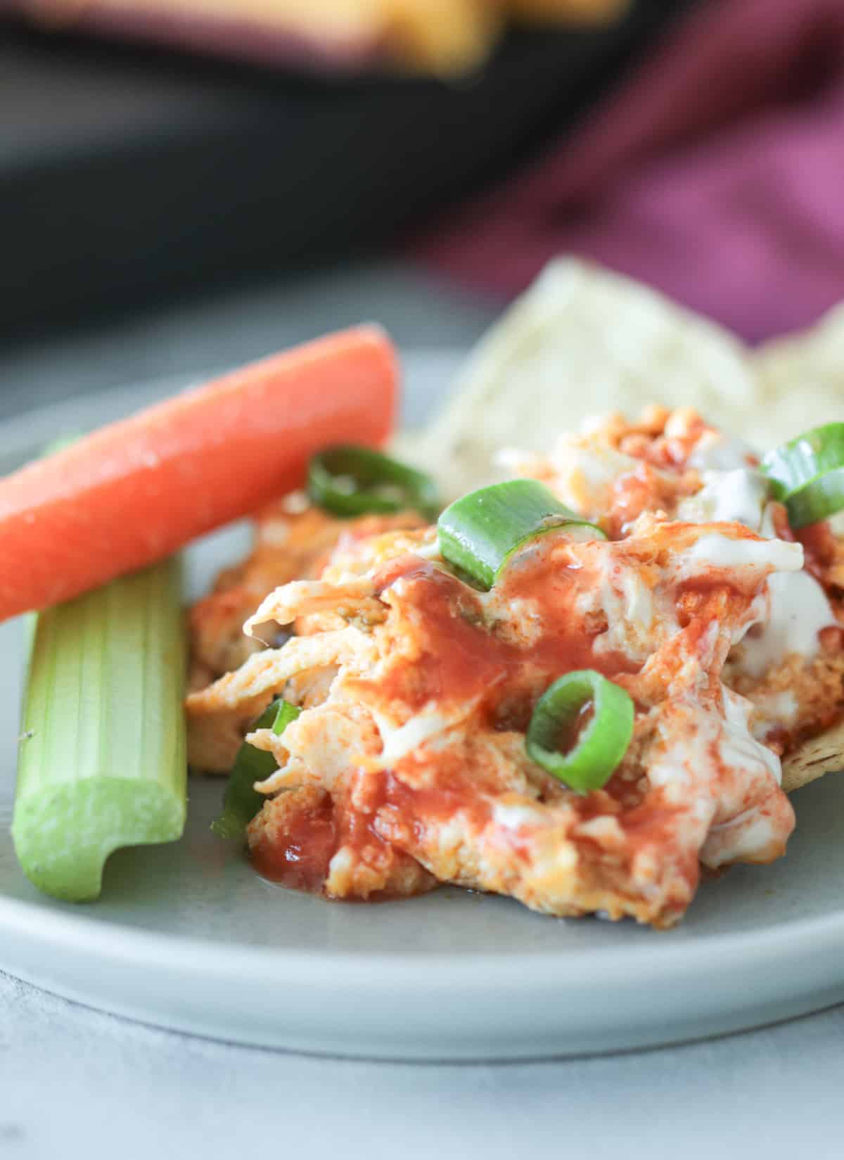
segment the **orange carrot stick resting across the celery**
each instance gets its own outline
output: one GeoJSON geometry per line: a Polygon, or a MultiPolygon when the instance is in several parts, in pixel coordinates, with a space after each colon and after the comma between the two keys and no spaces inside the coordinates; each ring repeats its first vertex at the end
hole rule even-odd
{"type": "Polygon", "coordinates": [[[0,479],[0,619],[162,559],[303,484],[332,443],[381,443],[396,360],[374,326],[187,391],[0,479]]]}

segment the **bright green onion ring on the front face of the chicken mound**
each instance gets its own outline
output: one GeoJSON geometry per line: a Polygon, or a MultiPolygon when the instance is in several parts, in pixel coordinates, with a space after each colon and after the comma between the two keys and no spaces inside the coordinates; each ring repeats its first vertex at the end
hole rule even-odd
{"type": "Polygon", "coordinates": [[[566,673],[536,704],[528,755],[573,790],[598,790],[630,748],[633,718],[633,698],[620,686],[591,668],[566,673]]]}

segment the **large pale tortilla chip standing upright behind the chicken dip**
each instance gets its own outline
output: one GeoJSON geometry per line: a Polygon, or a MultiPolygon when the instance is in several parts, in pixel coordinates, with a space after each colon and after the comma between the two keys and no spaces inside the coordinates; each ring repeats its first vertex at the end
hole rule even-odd
{"type": "Polygon", "coordinates": [[[726,331],[628,278],[554,261],[470,355],[415,458],[459,494],[502,447],[546,450],[588,414],[647,403],[747,414],[755,384],[726,331]]]}

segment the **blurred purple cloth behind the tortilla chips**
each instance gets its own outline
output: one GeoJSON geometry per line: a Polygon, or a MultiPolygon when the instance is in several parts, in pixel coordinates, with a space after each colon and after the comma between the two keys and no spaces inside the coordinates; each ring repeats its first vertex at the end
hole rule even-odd
{"type": "Polygon", "coordinates": [[[750,341],[813,322],[844,299],[844,0],[694,9],[574,138],[414,252],[507,297],[576,254],[750,341]]]}

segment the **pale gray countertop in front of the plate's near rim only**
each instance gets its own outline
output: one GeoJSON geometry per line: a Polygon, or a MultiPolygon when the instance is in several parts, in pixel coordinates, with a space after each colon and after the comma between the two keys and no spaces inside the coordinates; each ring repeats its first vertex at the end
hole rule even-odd
{"type": "Polygon", "coordinates": [[[409,1065],[235,1047],[0,977],[0,1155],[831,1160],[844,1009],[612,1058],[409,1065]]]}

